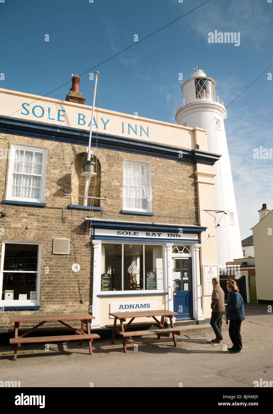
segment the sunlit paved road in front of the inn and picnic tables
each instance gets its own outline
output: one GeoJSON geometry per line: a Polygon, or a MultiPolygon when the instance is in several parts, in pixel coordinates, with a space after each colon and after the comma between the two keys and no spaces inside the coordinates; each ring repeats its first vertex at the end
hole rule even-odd
{"type": "Polygon", "coordinates": [[[20,380],[21,387],[253,387],[262,378],[273,380],[273,325],[264,308],[247,309],[242,325],[243,351],[230,354],[227,330],[224,341],[211,344],[213,334],[178,337],[178,348],[171,338],[135,337],[126,354],[121,340],[94,342],[89,356],[87,343],[22,346],[17,361],[10,348],[0,356],[0,380],[20,380]],[[138,351],[134,350],[138,344],[138,351]],[[60,352],[61,351],[61,352],[60,352]],[[64,352],[65,351],[65,352],[64,352]]]}

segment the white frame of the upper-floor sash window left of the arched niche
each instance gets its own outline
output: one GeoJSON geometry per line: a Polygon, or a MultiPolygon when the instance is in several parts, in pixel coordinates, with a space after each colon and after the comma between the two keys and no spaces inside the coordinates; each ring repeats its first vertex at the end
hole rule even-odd
{"type": "Polygon", "coordinates": [[[9,159],[9,174],[7,179],[7,200],[14,201],[26,201],[26,202],[40,202],[43,203],[45,200],[45,175],[46,175],[46,161],[47,161],[47,148],[38,147],[34,145],[27,144],[12,144],[10,150],[10,159],[9,159]],[[42,161],[42,173],[41,173],[41,187],[40,187],[40,198],[25,198],[25,197],[12,197],[12,176],[14,173],[14,158],[16,149],[25,149],[31,151],[41,151],[43,153],[42,161]]]}

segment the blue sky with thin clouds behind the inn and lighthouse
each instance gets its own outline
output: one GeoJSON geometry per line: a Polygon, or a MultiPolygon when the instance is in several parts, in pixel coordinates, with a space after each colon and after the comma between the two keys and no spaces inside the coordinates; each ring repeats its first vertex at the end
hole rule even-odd
{"type": "MultiPolygon", "coordinates": [[[[81,75],[91,105],[99,70],[100,108],[175,123],[182,100],[178,74],[198,65],[216,81],[225,106],[273,63],[273,3],[210,0],[143,42],[139,40],[205,0],[5,0],[0,3],[0,87],[45,95],[81,75]],[[240,32],[240,46],[208,43],[214,30],[240,32]],[[49,42],[45,42],[45,34],[49,42]],[[5,41],[3,41],[5,39],[5,41]],[[100,62],[134,44],[108,62],[100,62]]],[[[273,148],[273,81],[262,75],[228,107],[226,135],[241,238],[259,221],[262,203],[273,209],[273,160],[253,159],[253,149],[273,148]]],[[[52,94],[65,99],[70,83],[52,94]]],[[[202,126],[202,125],[197,125],[202,126]]]]}

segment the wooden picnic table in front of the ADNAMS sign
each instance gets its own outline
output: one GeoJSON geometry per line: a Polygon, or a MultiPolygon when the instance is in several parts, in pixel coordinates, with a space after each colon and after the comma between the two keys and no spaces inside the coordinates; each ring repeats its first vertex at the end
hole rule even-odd
{"type": "Polygon", "coordinates": [[[142,310],[140,312],[116,312],[116,313],[109,313],[109,315],[114,316],[114,325],[111,327],[113,330],[112,333],[112,344],[114,344],[115,334],[119,334],[122,336],[122,344],[123,344],[123,351],[126,352],[126,337],[131,339],[132,336],[142,336],[142,335],[154,335],[157,334],[157,338],[160,338],[160,335],[163,333],[171,333],[173,335],[173,344],[177,347],[176,335],[180,335],[181,331],[185,329],[175,328],[173,326],[173,315],[178,315],[177,312],[172,312],[171,310],[161,309],[161,310],[142,310]],[[157,320],[156,316],[161,316],[160,322],[157,320]],[[158,329],[152,330],[143,330],[143,331],[130,331],[126,332],[127,328],[131,325],[135,318],[153,318],[155,325],[158,329]],[[123,322],[126,321],[127,318],[131,318],[129,322],[123,326],[123,322]],[[169,318],[170,320],[170,328],[164,326],[164,318],[169,318]],[[120,329],[116,327],[116,322],[119,320],[120,322],[120,329]]]}

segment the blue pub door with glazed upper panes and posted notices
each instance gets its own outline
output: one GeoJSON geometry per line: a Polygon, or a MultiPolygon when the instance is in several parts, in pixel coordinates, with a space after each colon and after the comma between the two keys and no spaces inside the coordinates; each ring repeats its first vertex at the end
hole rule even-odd
{"type": "Polygon", "coordinates": [[[193,319],[191,258],[173,258],[173,310],[176,320],[193,319]]]}

